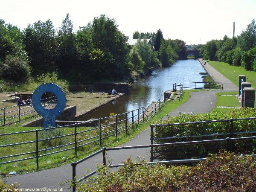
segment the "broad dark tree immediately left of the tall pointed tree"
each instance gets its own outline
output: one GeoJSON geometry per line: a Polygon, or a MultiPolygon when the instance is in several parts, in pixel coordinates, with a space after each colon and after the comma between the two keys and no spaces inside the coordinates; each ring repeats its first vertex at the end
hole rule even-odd
{"type": "Polygon", "coordinates": [[[55,29],[51,20],[38,20],[23,31],[25,49],[31,58],[32,74],[41,74],[55,69],[55,29]]]}

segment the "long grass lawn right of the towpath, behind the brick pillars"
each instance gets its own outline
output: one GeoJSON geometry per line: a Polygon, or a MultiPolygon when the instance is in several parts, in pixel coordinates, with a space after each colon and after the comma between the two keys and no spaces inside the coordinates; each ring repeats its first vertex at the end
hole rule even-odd
{"type": "MultiPolygon", "coordinates": [[[[219,61],[207,61],[212,67],[214,67],[218,72],[227,77],[235,85],[239,86],[239,75],[245,75],[246,81],[251,83],[251,86],[256,88],[256,72],[247,71],[243,67],[233,66],[224,62],[219,61]]],[[[255,93],[256,98],[256,93],[255,93]]],[[[256,102],[254,102],[256,106],[256,102]]]]}

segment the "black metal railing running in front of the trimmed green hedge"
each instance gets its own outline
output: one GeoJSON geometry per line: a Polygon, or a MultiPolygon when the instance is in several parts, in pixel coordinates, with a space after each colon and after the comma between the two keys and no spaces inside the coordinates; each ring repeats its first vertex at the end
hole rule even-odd
{"type": "MultiPolygon", "coordinates": [[[[247,134],[256,134],[256,131],[239,131],[239,132],[235,132],[234,131],[234,125],[233,122],[234,121],[249,121],[249,120],[253,120],[256,119],[256,117],[248,117],[248,118],[239,118],[239,119],[224,119],[224,120],[212,120],[212,121],[200,121],[200,122],[184,122],[184,123],[171,123],[171,124],[162,124],[162,125],[151,125],[151,145],[154,144],[154,141],[157,141],[158,143],[162,143],[163,141],[168,141],[169,142],[177,142],[177,141],[191,141],[194,139],[212,139],[212,138],[217,138],[217,137],[227,137],[229,136],[230,138],[235,137],[236,135],[247,135],[247,134]],[[189,125],[189,124],[194,124],[194,125],[198,125],[198,124],[207,124],[207,123],[216,123],[216,122],[225,122],[226,125],[227,123],[230,123],[230,126],[227,130],[226,133],[214,133],[214,134],[200,134],[200,135],[192,135],[192,136],[174,136],[174,137],[154,137],[154,128],[165,128],[165,127],[174,127],[174,126],[183,126],[183,125],[189,125]]],[[[213,125],[212,125],[213,126],[213,125]]],[[[171,131],[171,130],[170,130],[171,131]]],[[[164,142],[166,143],[166,142],[164,142]]],[[[255,144],[247,144],[244,145],[244,147],[255,147],[255,144]]],[[[240,146],[241,147],[241,146],[240,146]]],[[[195,156],[207,156],[209,154],[209,151],[211,152],[216,152],[219,149],[223,148],[223,146],[204,146],[204,152],[201,152],[200,154],[200,150],[199,148],[189,148],[187,150],[185,149],[180,149],[180,148],[176,148],[176,149],[153,149],[151,148],[151,161],[153,161],[154,159],[162,159],[162,158],[168,158],[168,159],[175,159],[175,158],[186,158],[186,157],[195,157],[195,156]],[[177,152],[179,153],[179,155],[176,155],[177,152]],[[168,153],[168,154],[167,154],[168,153]],[[157,154],[157,156],[154,156],[154,154],[157,154]],[[161,157],[160,154],[164,154],[165,157],[161,157]],[[184,155],[182,155],[184,154],[184,155]],[[190,154],[190,155],[189,155],[190,154]]],[[[237,147],[234,145],[231,145],[231,151],[232,150],[237,150],[237,147]]]]}

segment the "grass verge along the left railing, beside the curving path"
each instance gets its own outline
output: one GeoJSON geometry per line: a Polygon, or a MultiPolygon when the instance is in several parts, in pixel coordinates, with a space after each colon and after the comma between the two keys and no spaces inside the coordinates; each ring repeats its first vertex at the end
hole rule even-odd
{"type": "MultiPolygon", "coordinates": [[[[115,137],[109,137],[108,139],[103,141],[103,145],[108,146],[108,147],[114,147],[114,146],[121,145],[122,143],[128,142],[129,140],[133,139],[138,134],[140,134],[140,132],[142,132],[143,130],[148,128],[151,124],[162,119],[164,116],[166,116],[167,113],[169,113],[170,111],[176,109],[178,106],[185,103],[189,99],[190,93],[194,92],[194,91],[198,91],[198,90],[185,90],[182,101],[174,100],[172,102],[166,102],[166,105],[162,108],[162,110],[159,113],[157,113],[157,115],[154,116],[153,119],[150,119],[148,122],[145,122],[138,126],[135,126],[134,130],[129,130],[128,135],[120,134],[117,140],[115,137]]],[[[20,127],[20,124],[21,123],[16,124],[16,125],[0,127],[0,133],[2,134],[2,133],[28,131],[28,130],[37,129],[37,128],[20,127]]],[[[88,129],[88,128],[84,128],[84,127],[78,128],[77,131],[83,131],[85,129],[88,129]]],[[[44,131],[42,131],[42,132],[44,132],[44,131]]],[[[74,132],[74,128],[65,128],[65,129],[61,129],[60,133],[58,133],[58,131],[57,131],[56,133],[52,133],[51,136],[48,135],[47,137],[58,136],[58,135],[63,135],[63,134],[70,134],[73,132],[74,132]]],[[[84,138],[89,138],[92,135],[96,134],[95,132],[92,132],[91,134],[87,134],[87,133],[88,132],[81,135],[81,137],[78,138],[78,141],[82,140],[84,138]]],[[[2,136],[2,138],[0,140],[0,145],[35,140],[35,132],[19,134],[19,137],[17,137],[17,136],[18,135],[2,136]]],[[[46,138],[45,135],[39,134],[39,139],[42,139],[42,138],[46,138]]],[[[68,139],[64,139],[64,140],[56,139],[54,145],[71,143],[71,142],[73,142],[73,140],[74,140],[73,136],[70,136],[70,137],[68,137],[68,139]]],[[[48,145],[48,144],[40,143],[39,148],[42,149],[42,148],[49,147],[49,146],[45,146],[45,145],[48,145]]],[[[73,147],[73,145],[70,145],[68,147],[73,147]]],[[[57,154],[52,154],[49,156],[40,157],[39,158],[39,168],[40,168],[40,170],[44,170],[44,169],[50,169],[50,168],[53,168],[56,166],[61,166],[62,164],[71,163],[74,160],[79,160],[83,157],[86,157],[87,155],[91,154],[93,151],[98,150],[99,148],[100,148],[100,146],[98,143],[86,145],[82,148],[79,148],[77,157],[75,157],[75,155],[74,155],[74,149],[70,150],[70,151],[60,152],[57,154]]],[[[58,150],[61,150],[61,149],[64,149],[64,148],[58,148],[58,150]]],[[[35,151],[35,143],[0,148],[1,156],[26,153],[29,151],[35,151]]],[[[52,149],[49,152],[53,152],[53,151],[56,151],[56,149],[52,149]]],[[[45,154],[45,152],[41,152],[41,154],[45,154]]],[[[0,160],[0,162],[4,162],[6,160],[7,161],[17,160],[20,158],[32,157],[32,156],[35,156],[35,154],[24,155],[23,157],[11,157],[11,158],[0,160]]],[[[27,173],[27,172],[33,172],[33,171],[35,171],[35,169],[36,169],[35,159],[0,165],[0,172],[2,174],[7,174],[8,172],[11,172],[11,171],[16,171],[19,174],[22,174],[22,173],[27,173]]]]}

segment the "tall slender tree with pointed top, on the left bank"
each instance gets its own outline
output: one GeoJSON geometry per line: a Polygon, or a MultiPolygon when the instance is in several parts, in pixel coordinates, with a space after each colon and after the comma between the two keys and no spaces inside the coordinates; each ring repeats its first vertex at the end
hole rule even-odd
{"type": "Polygon", "coordinates": [[[73,34],[73,23],[67,14],[58,30],[56,65],[62,74],[69,76],[77,68],[76,64],[76,36],[73,34]]]}

